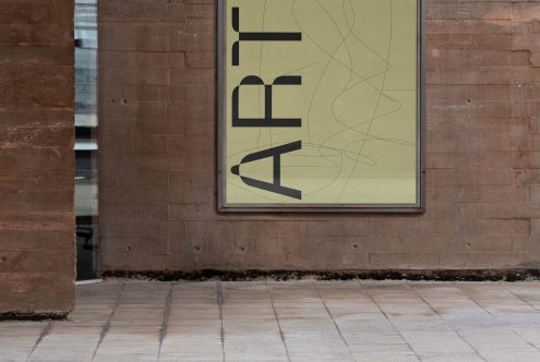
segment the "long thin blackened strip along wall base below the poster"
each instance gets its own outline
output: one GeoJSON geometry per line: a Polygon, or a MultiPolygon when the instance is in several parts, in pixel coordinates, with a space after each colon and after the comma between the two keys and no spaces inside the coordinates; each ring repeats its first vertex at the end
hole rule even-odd
{"type": "Polygon", "coordinates": [[[526,281],[539,280],[540,269],[418,269],[418,270],[107,270],[103,278],[175,280],[429,280],[429,281],[526,281]]]}

